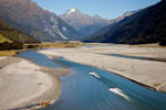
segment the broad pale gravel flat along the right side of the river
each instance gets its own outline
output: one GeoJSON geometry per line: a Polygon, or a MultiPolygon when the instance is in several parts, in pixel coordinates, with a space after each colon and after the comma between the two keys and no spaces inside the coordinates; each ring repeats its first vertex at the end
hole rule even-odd
{"type": "Polygon", "coordinates": [[[121,54],[165,59],[165,47],[101,44],[91,47],[46,50],[39,51],[39,53],[49,57],[63,57],[75,63],[95,66],[157,91],[166,91],[165,62],[111,56],[111,54],[121,54]]]}

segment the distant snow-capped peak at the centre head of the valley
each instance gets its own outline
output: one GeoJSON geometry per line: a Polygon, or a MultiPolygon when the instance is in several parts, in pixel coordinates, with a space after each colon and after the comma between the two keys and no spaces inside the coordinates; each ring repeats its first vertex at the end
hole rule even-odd
{"type": "Polygon", "coordinates": [[[90,35],[108,24],[106,19],[84,14],[79,9],[71,9],[60,18],[84,35],[90,35]]]}

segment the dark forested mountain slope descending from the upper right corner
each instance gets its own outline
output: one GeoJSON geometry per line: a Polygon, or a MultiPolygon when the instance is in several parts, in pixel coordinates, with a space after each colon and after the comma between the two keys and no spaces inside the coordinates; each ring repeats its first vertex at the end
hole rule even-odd
{"type": "Polygon", "coordinates": [[[111,24],[85,40],[85,42],[127,44],[163,41],[166,41],[166,0],[111,24]]]}

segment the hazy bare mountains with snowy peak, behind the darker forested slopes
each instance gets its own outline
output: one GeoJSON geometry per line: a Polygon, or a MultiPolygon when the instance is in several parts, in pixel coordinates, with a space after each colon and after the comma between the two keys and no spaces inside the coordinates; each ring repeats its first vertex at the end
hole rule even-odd
{"type": "Polygon", "coordinates": [[[48,42],[82,40],[133,13],[127,12],[108,21],[98,15],[84,14],[79,9],[71,9],[58,16],[31,0],[0,0],[0,19],[3,22],[38,41],[48,42]]]}

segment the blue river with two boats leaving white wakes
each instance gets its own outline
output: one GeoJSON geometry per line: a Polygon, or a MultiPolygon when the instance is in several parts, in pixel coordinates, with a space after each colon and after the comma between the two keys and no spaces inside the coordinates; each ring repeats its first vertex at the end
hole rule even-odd
{"type": "Polygon", "coordinates": [[[166,110],[166,94],[137,85],[113,73],[63,58],[50,59],[28,51],[18,54],[51,68],[69,68],[61,77],[62,94],[52,106],[41,110],[166,110]]]}

